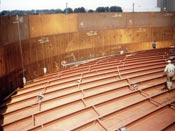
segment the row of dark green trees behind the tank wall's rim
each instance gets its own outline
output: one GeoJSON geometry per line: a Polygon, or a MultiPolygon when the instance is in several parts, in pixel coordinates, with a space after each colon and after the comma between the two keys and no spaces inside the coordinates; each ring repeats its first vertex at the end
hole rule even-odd
{"type": "Polygon", "coordinates": [[[86,10],[84,7],[79,8],[65,8],[61,9],[43,9],[43,10],[4,10],[0,12],[1,16],[13,16],[13,15],[37,15],[37,14],[70,14],[70,13],[93,13],[93,12],[123,12],[122,8],[119,6],[111,6],[111,7],[97,7],[95,10],[89,9],[86,10]]]}

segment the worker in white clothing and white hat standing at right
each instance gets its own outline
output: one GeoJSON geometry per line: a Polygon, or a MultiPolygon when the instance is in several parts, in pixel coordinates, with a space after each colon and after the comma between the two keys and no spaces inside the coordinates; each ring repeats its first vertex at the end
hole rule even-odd
{"type": "Polygon", "coordinates": [[[171,90],[173,86],[173,76],[175,75],[175,66],[171,63],[171,60],[168,60],[168,64],[164,69],[164,74],[167,75],[166,86],[168,90],[171,90]]]}

